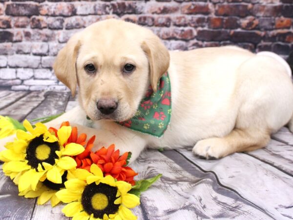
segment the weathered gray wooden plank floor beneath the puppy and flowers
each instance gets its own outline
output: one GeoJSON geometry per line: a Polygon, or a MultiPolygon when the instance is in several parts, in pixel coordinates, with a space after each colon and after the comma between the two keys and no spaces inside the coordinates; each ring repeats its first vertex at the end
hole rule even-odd
{"type": "MultiPolygon", "coordinates": [[[[69,110],[69,93],[0,91],[0,114],[19,120],[69,110]]],[[[134,209],[139,220],[293,219],[293,134],[286,128],[269,146],[206,161],[190,149],[146,150],[132,164],[137,179],[162,173],[134,209]]],[[[0,219],[65,220],[63,205],[38,206],[18,196],[0,171],[0,219]]]]}

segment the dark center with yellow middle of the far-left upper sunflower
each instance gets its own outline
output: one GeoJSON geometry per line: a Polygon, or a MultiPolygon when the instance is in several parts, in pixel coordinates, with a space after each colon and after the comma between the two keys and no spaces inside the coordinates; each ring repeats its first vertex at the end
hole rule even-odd
{"type": "Polygon", "coordinates": [[[28,164],[33,168],[38,168],[39,163],[42,164],[42,162],[54,165],[55,159],[58,158],[55,151],[59,150],[60,146],[58,141],[52,143],[45,142],[43,135],[40,135],[32,139],[28,144],[25,159],[28,160],[28,164]]]}

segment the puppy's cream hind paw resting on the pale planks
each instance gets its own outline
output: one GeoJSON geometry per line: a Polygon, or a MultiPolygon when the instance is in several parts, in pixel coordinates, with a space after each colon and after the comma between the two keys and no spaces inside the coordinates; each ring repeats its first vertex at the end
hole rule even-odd
{"type": "Polygon", "coordinates": [[[229,153],[229,143],[223,138],[208,138],[198,141],[192,149],[193,154],[201,159],[219,159],[229,153]]]}

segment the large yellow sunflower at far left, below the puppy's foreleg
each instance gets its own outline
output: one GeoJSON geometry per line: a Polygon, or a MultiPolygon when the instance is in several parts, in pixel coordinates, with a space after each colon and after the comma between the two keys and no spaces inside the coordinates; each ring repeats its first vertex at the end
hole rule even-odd
{"type": "Polygon", "coordinates": [[[0,160],[4,161],[3,172],[18,184],[20,192],[35,191],[39,181],[44,180],[61,184],[64,172],[77,165],[70,156],[84,151],[80,144],[65,145],[71,127],[60,128],[57,138],[42,123],[33,128],[25,120],[23,126],[28,132],[18,130],[14,142],[7,143],[7,150],[0,152],[0,160]]]}

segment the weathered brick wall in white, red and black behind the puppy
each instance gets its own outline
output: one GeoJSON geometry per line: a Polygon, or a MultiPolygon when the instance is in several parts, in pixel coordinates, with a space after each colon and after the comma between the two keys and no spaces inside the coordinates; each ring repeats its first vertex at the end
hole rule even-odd
{"type": "Polygon", "coordinates": [[[169,49],[293,50],[293,0],[0,0],[0,87],[65,89],[51,69],[58,50],[106,18],[147,26],[169,49]]]}

